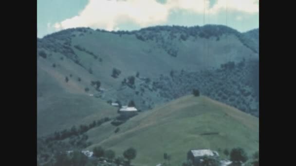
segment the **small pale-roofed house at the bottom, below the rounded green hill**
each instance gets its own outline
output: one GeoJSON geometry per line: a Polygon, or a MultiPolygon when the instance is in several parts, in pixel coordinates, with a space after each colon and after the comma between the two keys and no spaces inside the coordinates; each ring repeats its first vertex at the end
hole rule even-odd
{"type": "Polygon", "coordinates": [[[194,166],[201,166],[204,156],[218,157],[219,154],[210,149],[189,150],[187,153],[187,159],[191,160],[194,166]]]}

